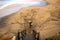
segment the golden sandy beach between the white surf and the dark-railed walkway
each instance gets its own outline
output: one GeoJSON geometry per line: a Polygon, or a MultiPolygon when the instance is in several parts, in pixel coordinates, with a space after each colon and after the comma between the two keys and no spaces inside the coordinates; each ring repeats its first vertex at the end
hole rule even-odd
{"type": "MultiPolygon", "coordinates": [[[[53,1],[49,2],[52,3],[53,1]]],[[[25,27],[29,27],[28,23],[31,20],[33,23],[32,29],[40,33],[42,40],[54,36],[60,32],[60,6],[46,5],[22,8],[15,14],[0,20],[0,34],[22,31],[25,27]]]]}

